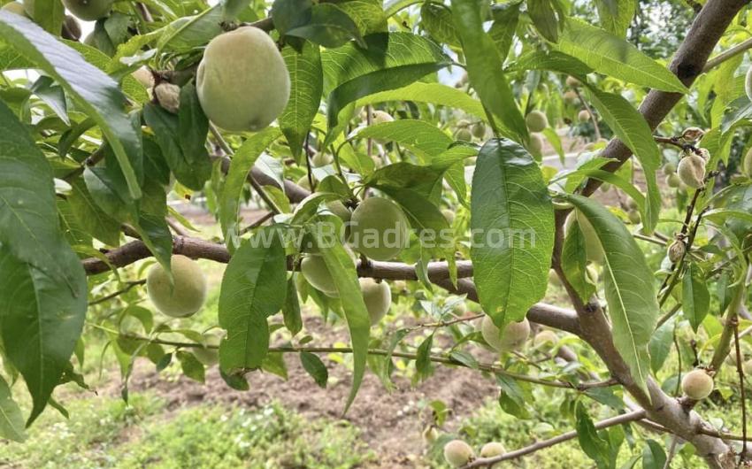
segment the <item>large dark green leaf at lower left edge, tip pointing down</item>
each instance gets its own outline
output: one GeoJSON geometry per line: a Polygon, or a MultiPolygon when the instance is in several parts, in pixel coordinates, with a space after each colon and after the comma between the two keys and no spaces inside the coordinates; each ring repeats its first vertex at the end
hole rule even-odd
{"type": "Polygon", "coordinates": [[[33,422],[58,386],[81,335],[87,308],[86,274],[79,258],[62,240],[56,265],[67,269],[69,281],[48,276],[47,265],[28,265],[12,250],[0,247],[0,335],[5,356],[19,370],[32,396],[27,424],[33,422]]]}

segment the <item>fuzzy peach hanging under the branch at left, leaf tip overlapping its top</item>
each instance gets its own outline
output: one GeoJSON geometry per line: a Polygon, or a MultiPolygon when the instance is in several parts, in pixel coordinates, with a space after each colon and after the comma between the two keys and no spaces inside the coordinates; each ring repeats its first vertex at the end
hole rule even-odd
{"type": "Polygon", "coordinates": [[[167,316],[187,318],[199,311],[206,300],[206,278],[195,260],[173,255],[170,260],[173,283],[162,265],[151,267],[146,289],[151,303],[167,316]]]}

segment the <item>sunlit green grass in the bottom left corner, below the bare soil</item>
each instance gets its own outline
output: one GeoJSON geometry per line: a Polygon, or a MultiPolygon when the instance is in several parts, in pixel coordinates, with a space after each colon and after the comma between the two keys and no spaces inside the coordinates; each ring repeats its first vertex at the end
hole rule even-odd
{"type": "Polygon", "coordinates": [[[375,459],[348,423],[307,420],[280,404],[168,411],[162,399],[134,394],[130,405],[88,396],[66,408],[71,419],[44,412],[27,442],[0,446],[0,466],[347,469],[375,459]]]}

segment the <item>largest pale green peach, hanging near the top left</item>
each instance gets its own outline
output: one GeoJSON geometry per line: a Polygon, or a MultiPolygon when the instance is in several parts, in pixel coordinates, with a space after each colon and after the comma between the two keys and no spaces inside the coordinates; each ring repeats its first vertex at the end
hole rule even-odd
{"type": "Polygon", "coordinates": [[[206,46],[196,91],[203,112],[219,127],[261,130],[288,104],[288,67],[269,35],[257,27],[239,27],[206,46]]]}

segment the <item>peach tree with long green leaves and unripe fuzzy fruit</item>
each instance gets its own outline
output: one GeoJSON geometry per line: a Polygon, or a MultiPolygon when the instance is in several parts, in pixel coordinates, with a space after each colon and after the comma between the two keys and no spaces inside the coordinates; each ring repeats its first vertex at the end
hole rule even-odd
{"type": "Polygon", "coordinates": [[[660,48],[634,39],[626,0],[3,3],[4,438],[65,412],[54,390],[86,387],[84,343],[104,331],[126,399],[137,358],[199,381],[219,362],[247,389],[291,355],[326,386],[322,353],[349,357],[344,411],[366,370],[389,387],[396,360],[416,381],[434,365],[494,377],[519,418],[534,388],[572,394],[574,430],[478,455],[441,441],[457,467],[575,438],[615,467],[632,427],[670,442],[632,465],[667,466],[679,445],[747,463],[745,2],[677,7],[690,26],[670,57],[643,51],[660,48]],[[180,199],[203,201],[217,239],[180,199]],[[244,221],[248,205],[265,215],[244,221]],[[209,332],[173,319],[205,302],[195,259],[227,264],[209,332]],[[568,308],[541,303],[549,284],[568,308]],[[417,288],[436,301],[383,327],[417,288]],[[348,347],[301,334],[305,301],[346,324],[348,347]],[[541,349],[545,363],[527,357],[541,349]],[[724,367],[738,381],[714,382],[724,367]],[[708,398],[740,411],[711,425],[708,398]],[[594,402],[612,416],[594,421],[594,402]]]}

